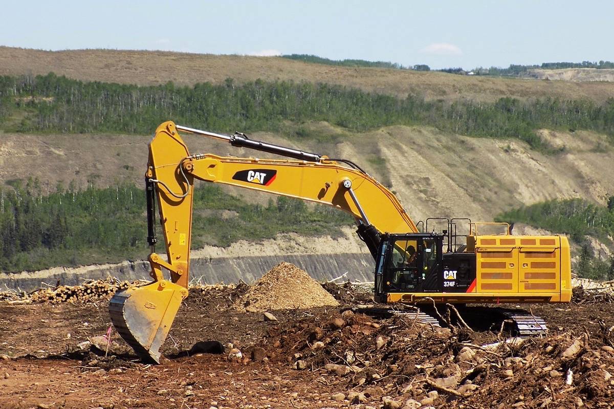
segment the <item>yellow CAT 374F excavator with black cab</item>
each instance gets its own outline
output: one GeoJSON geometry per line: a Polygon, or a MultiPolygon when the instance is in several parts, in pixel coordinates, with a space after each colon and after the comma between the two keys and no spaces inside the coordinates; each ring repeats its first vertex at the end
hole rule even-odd
{"type": "MultiPolygon", "coordinates": [[[[146,172],[147,285],[117,292],[109,304],[122,338],[144,360],[160,362],[160,347],[188,296],[194,180],[223,183],[330,205],[354,216],[357,234],[375,260],[375,300],[382,303],[467,304],[569,302],[572,295],[566,237],[515,236],[507,223],[430,218],[416,224],[397,197],[354,162],[249,139],[179,126],[158,126],[149,143],[146,172]],[[234,147],[292,159],[190,155],[179,131],[223,140],[234,147]],[[155,253],[155,204],[166,257],[155,253]],[[437,224],[445,229],[435,231],[437,224]],[[465,234],[459,234],[461,226],[465,234]],[[500,228],[499,234],[492,229],[500,228]],[[430,231],[429,231],[430,229],[430,231]],[[163,271],[169,273],[165,278],[163,271]]],[[[543,320],[522,322],[525,333],[543,320]]]]}

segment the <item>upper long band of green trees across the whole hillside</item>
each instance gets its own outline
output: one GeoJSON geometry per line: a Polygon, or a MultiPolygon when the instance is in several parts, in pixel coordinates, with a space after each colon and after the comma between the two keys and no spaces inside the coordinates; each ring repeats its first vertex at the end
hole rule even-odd
{"type": "Polygon", "coordinates": [[[518,138],[548,148],[535,132],[588,129],[614,135],[614,98],[604,104],[553,98],[494,103],[426,101],[325,83],[255,82],[137,86],[80,82],[55,74],[0,77],[0,126],[20,132],[149,134],[177,123],[218,132],[276,131],[287,121],[327,121],[352,131],[424,124],[467,136],[518,138]],[[18,118],[18,119],[16,119],[18,118]]]}

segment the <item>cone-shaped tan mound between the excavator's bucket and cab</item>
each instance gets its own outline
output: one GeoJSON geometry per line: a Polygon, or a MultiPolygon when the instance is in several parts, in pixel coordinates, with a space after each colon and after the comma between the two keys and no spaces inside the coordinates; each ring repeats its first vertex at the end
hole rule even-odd
{"type": "Polygon", "coordinates": [[[251,311],[291,310],[339,305],[305,270],[281,262],[256,281],[235,307],[251,311]]]}

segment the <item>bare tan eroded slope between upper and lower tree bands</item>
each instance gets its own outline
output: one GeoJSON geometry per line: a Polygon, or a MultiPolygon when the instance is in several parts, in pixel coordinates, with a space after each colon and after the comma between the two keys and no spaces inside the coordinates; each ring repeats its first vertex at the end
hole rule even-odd
{"type": "MultiPolygon", "coordinates": [[[[319,124],[319,126],[323,126],[319,124]]],[[[349,135],[340,142],[284,140],[260,133],[257,139],[356,161],[391,186],[415,220],[468,216],[491,220],[521,204],[554,198],[585,197],[604,203],[614,194],[610,172],[614,151],[605,136],[591,132],[540,131],[564,153],[542,155],[518,140],[446,134],[432,128],[392,126],[349,135]],[[373,162],[373,158],[381,158],[373,162]]],[[[38,177],[43,189],[58,180],[105,186],[117,180],[142,183],[148,137],[117,135],[33,136],[4,134],[0,144],[0,182],[38,177]]],[[[259,156],[194,136],[185,136],[191,153],[259,156]]],[[[270,195],[232,189],[248,201],[266,203],[270,195]]]]}

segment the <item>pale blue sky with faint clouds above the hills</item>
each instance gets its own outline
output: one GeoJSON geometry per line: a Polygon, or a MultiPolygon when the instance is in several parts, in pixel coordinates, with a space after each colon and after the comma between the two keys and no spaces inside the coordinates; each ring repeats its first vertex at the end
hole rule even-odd
{"type": "Polygon", "coordinates": [[[614,1],[10,1],[0,45],[306,53],[431,67],[614,60],[614,1]]]}

